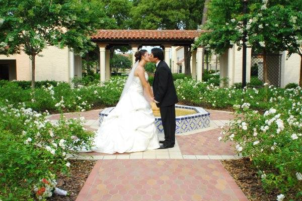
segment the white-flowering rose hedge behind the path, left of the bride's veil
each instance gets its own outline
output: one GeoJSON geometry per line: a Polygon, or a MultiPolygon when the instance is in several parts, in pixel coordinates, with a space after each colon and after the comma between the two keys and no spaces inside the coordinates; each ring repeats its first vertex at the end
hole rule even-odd
{"type": "Polygon", "coordinates": [[[59,112],[84,112],[94,106],[113,106],[118,102],[119,96],[125,83],[125,77],[114,77],[105,84],[91,84],[71,88],[68,83],[45,82],[35,89],[22,88],[17,81],[0,82],[0,99],[6,99],[9,104],[18,105],[24,103],[26,107],[35,111],[50,113],[59,112]]]}

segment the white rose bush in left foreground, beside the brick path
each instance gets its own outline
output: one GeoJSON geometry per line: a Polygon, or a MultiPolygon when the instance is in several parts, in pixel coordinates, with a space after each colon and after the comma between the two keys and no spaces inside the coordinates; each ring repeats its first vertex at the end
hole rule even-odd
{"type": "MultiPolygon", "coordinates": [[[[46,121],[46,113],[25,109],[25,104],[0,105],[0,199],[34,200],[45,186],[41,179],[55,185],[52,173],[67,173],[66,156],[81,147],[89,149],[93,134],[83,129],[83,120],[61,116],[55,126],[46,121]]],[[[53,187],[46,188],[41,198],[51,195],[53,187]]]]}

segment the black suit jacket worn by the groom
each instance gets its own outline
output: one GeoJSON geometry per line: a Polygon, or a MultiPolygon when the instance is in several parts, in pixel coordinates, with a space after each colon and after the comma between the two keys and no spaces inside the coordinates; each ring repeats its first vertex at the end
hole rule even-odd
{"type": "Polygon", "coordinates": [[[167,107],[178,103],[178,98],[173,82],[171,70],[165,61],[160,61],[157,66],[153,81],[154,99],[157,107],[167,107]]]}

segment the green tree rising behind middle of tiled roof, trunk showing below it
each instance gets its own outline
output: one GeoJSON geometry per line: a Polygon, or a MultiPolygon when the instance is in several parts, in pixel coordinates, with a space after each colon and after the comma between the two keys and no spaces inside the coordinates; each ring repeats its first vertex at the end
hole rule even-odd
{"type": "MultiPolygon", "coordinates": [[[[204,0],[141,0],[133,7],[132,29],[197,29],[204,0]]],[[[184,47],[185,74],[191,74],[191,46],[184,47]]]]}

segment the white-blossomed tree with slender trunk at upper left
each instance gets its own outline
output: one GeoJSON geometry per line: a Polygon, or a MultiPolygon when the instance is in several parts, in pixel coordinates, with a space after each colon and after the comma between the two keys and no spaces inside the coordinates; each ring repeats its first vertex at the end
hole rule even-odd
{"type": "Polygon", "coordinates": [[[95,46],[90,36],[106,18],[98,0],[2,0],[0,2],[0,53],[25,52],[32,63],[47,45],[86,53],[95,46]]]}

